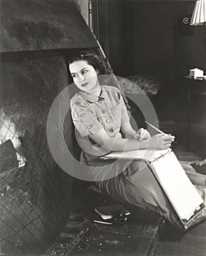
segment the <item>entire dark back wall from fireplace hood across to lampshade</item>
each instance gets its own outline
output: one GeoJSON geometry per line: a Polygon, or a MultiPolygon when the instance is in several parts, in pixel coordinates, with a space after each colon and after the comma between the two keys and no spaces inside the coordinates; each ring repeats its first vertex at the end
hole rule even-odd
{"type": "Polygon", "coordinates": [[[94,31],[116,75],[156,75],[165,86],[206,72],[205,26],[183,25],[195,1],[93,1],[94,31]]]}

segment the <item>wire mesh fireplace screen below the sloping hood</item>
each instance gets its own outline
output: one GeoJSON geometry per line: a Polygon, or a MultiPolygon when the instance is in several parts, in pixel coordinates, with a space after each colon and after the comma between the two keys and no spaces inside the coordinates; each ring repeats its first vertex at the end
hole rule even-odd
{"type": "MultiPolygon", "coordinates": [[[[55,164],[46,131],[49,108],[67,85],[60,56],[1,63],[2,255],[44,252],[69,216],[72,179],[55,164]]],[[[71,129],[69,117],[65,127],[71,129]]],[[[68,147],[72,151],[72,143],[68,147]]]]}

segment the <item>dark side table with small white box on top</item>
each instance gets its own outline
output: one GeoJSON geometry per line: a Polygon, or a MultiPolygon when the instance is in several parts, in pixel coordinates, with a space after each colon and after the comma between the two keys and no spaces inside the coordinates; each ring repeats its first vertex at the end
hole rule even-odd
{"type": "Polygon", "coordinates": [[[191,138],[191,97],[196,95],[205,95],[206,97],[206,80],[205,78],[194,79],[189,75],[185,76],[186,78],[186,91],[187,91],[187,124],[186,124],[186,133],[187,133],[187,149],[190,150],[190,138],[191,138]]]}

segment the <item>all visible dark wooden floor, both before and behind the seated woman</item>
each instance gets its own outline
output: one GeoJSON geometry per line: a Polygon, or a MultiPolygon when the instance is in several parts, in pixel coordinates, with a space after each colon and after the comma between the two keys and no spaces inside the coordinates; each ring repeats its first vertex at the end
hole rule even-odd
{"type": "MultiPolygon", "coordinates": [[[[180,160],[189,161],[205,157],[205,137],[194,132],[197,137],[186,138],[186,124],[162,122],[160,128],[176,135],[178,143],[173,151],[180,160]]],[[[198,127],[192,127],[194,131],[198,127]]],[[[200,129],[202,131],[202,128],[200,129]]],[[[203,129],[204,130],[204,129],[203,129]]],[[[204,168],[203,168],[204,169],[204,168]]],[[[203,170],[202,169],[202,170],[203,170]]],[[[202,171],[203,173],[206,170],[202,171]]],[[[81,189],[79,189],[81,191],[81,189]]],[[[66,227],[46,255],[155,255],[155,256],[205,256],[206,222],[203,221],[183,233],[162,217],[133,206],[125,206],[131,211],[127,222],[122,225],[101,225],[93,222],[96,206],[114,205],[108,197],[88,189],[76,198],[74,211],[66,227]]]]}

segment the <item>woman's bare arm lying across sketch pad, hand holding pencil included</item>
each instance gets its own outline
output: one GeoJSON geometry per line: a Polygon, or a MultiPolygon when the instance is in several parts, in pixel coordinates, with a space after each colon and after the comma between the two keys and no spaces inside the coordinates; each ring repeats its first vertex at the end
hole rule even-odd
{"type": "Polygon", "coordinates": [[[111,138],[104,129],[100,129],[89,137],[95,141],[104,150],[111,151],[130,151],[143,148],[170,148],[174,136],[172,135],[154,135],[148,140],[138,141],[130,138],[111,138]]]}

